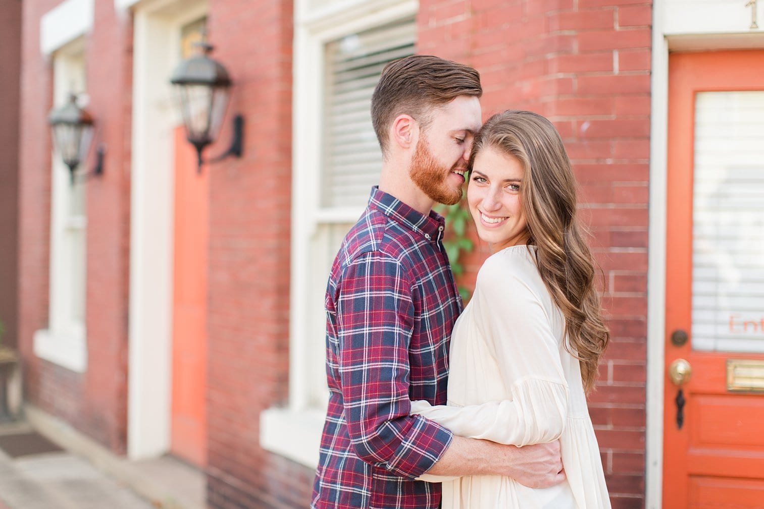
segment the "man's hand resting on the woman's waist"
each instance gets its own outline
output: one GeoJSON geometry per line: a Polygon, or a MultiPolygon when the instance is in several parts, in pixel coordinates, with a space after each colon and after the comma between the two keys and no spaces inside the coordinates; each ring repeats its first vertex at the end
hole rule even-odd
{"type": "Polygon", "coordinates": [[[549,488],[565,481],[560,457],[560,441],[536,443],[532,446],[503,446],[507,456],[507,475],[529,488],[549,488]]]}

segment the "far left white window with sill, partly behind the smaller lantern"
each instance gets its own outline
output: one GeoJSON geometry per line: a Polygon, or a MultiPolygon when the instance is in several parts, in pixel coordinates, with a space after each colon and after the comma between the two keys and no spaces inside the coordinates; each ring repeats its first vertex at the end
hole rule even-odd
{"type": "MultiPolygon", "coordinates": [[[[71,93],[86,100],[86,68],[82,38],[53,54],[53,105],[71,93]]],[[[50,311],[47,330],[34,335],[37,356],[76,372],[87,365],[85,330],[86,198],[82,182],[70,181],[69,170],[53,149],[50,175],[50,311]]]]}

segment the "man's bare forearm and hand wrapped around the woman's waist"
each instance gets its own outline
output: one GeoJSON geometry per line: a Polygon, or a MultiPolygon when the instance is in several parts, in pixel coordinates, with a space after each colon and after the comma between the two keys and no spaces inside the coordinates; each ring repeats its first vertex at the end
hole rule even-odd
{"type": "Polygon", "coordinates": [[[530,488],[547,488],[565,480],[558,440],[516,447],[454,437],[422,480],[436,482],[445,479],[434,476],[461,475],[506,475],[530,488]],[[430,475],[433,477],[429,478],[430,475]]]}

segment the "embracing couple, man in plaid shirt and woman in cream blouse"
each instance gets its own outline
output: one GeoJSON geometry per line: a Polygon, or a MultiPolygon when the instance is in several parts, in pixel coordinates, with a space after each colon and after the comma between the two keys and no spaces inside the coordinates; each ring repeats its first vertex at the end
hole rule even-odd
{"type": "Polygon", "coordinates": [[[313,509],[610,508],[586,393],[609,333],[562,139],[530,111],[481,127],[478,72],[388,64],[378,187],[326,291],[329,409],[313,509]],[[462,310],[436,202],[491,255],[462,310]]]}

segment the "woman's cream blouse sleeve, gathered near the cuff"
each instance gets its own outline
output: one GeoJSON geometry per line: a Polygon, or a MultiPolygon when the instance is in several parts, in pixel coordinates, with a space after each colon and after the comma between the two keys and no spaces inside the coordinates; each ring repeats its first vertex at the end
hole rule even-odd
{"type": "Polygon", "coordinates": [[[568,414],[558,337],[539,295],[545,288],[539,288],[536,267],[503,254],[481,268],[473,305],[478,335],[510,397],[465,407],[413,401],[411,411],[463,437],[516,446],[549,442],[560,437],[568,414]]]}

